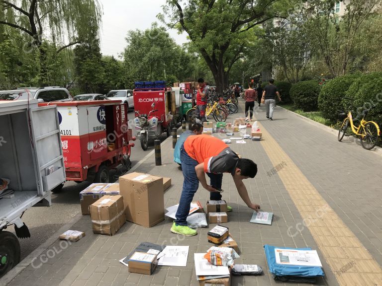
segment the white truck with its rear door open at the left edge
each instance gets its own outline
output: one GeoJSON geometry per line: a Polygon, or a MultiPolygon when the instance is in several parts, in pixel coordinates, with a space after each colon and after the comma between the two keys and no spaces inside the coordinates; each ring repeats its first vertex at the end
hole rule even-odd
{"type": "Polygon", "coordinates": [[[50,191],[65,181],[57,107],[37,103],[0,101],[0,277],[20,260],[17,237],[30,237],[24,212],[49,207],[50,191]],[[12,224],[16,235],[5,230],[12,224]]]}

